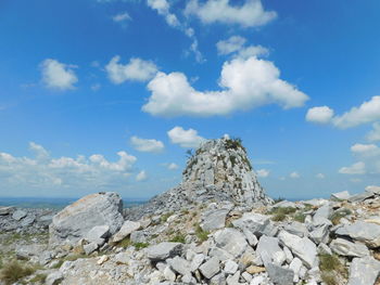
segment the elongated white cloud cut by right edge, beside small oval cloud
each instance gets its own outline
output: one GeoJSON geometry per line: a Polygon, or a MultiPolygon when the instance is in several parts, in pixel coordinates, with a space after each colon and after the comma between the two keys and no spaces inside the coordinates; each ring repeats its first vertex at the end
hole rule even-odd
{"type": "Polygon", "coordinates": [[[358,107],[353,107],[342,116],[333,118],[333,125],[341,129],[380,120],[380,96],[372,96],[358,107]]]}

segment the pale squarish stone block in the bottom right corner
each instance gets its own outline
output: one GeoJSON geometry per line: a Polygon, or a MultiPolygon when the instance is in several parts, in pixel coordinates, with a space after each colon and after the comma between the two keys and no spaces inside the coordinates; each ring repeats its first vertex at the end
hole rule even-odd
{"type": "Polygon", "coordinates": [[[372,257],[354,258],[347,285],[373,285],[380,275],[380,261],[372,257]]]}

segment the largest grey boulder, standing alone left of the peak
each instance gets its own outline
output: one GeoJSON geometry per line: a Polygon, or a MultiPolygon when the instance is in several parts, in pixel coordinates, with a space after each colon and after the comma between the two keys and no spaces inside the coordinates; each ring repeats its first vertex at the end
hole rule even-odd
{"type": "Polygon", "coordinates": [[[114,234],[124,223],[122,211],[123,200],[117,193],[87,195],[53,217],[49,243],[75,243],[97,225],[107,225],[110,234],[114,234]]]}

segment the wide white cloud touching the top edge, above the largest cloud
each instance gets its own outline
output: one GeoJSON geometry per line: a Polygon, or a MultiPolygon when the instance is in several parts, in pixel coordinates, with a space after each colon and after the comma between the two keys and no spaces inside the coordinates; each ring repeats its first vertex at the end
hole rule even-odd
{"type": "Polygon", "coordinates": [[[198,16],[204,24],[238,24],[242,27],[263,26],[277,16],[274,11],[265,11],[261,0],[245,0],[240,7],[230,5],[229,0],[207,0],[205,3],[191,0],[185,13],[198,16]]]}

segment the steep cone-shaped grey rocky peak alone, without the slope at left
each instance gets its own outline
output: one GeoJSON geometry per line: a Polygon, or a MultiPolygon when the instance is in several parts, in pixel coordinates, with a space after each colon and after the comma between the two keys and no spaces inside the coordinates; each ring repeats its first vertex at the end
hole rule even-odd
{"type": "Polygon", "coordinates": [[[245,205],[271,200],[259,185],[240,139],[225,135],[206,141],[189,158],[182,174],[185,189],[217,189],[227,192],[232,202],[245,205]]]}

